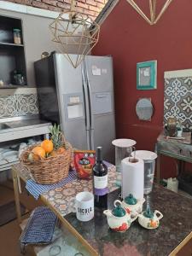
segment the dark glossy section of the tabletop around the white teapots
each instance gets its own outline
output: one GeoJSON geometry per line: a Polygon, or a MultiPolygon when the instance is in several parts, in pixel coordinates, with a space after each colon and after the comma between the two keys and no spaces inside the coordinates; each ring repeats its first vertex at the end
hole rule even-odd
{"type": "MultiPolygon", "coordinates": [[[[119,192],[118,189],[109,194],[109,208],[113,208],[119,192]]],[[[73,212],[65,218],[99,255],[166,256],[187,236],[192,237],[192,201],[154,184],[151,205],[164,215],[156,230],[146,230],[135,221],[125,233],[114,232],[108,228],[106,216],[98,209],[95,218],[87,223],[80,222],[73,212]]]]}

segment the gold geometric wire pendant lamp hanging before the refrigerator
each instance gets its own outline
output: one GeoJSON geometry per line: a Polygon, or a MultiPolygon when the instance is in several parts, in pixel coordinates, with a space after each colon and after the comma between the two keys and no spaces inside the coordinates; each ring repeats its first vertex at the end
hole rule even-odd
{"type": "Polygon", "coordinates": [[[74,68],[79,66],[84,60],[84,55],[88,55],[96,45],[100,32],[100,26],[94,20],[74,10],[74,1],[71,3],[71,9],[62,11],[49,25],[49,29],[57,49],[74,68]]]}

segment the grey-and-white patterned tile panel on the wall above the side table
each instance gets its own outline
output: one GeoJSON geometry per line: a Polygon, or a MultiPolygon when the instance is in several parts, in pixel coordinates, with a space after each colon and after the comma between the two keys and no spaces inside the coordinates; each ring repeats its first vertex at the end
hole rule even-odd
{"type": "Polygon", "coordinates": [[[175,117],[185,128],[192,130],[192,74],[179,77],[182,72],[184,70],[170,72],[171,75],[165,73],[164,122],[169,117],[175,117]]]}

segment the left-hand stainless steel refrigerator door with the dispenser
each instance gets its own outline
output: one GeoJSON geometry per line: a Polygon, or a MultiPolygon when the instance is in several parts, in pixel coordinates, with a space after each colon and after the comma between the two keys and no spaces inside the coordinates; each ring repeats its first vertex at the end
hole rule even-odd
{"type": "MultiPolygon", "coordinates": [[[[61,119],[61,128],[65,133],[67,141],[74,148],[88,149],[87,131],[85,128],[84,92],[81,65],[73,68],[68,64],[64,55],[55,56],[55,82],[61,119]],[[70,96],[79,96],[83,104],[83,116],[79,118],[68,117],[70,96]]],[[[88,120],[87,120],[88,121],[88,120]]]]}

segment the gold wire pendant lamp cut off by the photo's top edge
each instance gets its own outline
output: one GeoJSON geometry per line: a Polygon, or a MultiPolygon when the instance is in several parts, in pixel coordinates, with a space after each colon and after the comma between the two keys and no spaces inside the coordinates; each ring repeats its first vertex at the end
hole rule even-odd
{"type": "Polygon", "coordinates": [[[160,13],[156,14],[156,2],[157,0],[148,0],[149,10],[150,10],[150,18],[148,18],[147,15],[143,13],[143,10],[140,9],[133,0],[126,0],[128,3],[131,4],[131,6],[137,11],[139,15],[143,17],[144,20],[146,20],[150,25],[154,25],[157,23],[158,20],[160,20],[160,17],[165,13],[166,9],[172,3],[172,0],[166,0],[164,3],[162,9],[160,10],[160,13]]]}

